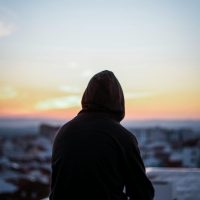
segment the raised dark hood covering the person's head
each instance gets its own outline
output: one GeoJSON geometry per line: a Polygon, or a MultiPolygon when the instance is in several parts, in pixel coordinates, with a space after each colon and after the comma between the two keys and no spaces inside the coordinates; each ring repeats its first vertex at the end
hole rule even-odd
{"type": "Polygon", "coordinates": [[[124,95],[115,75],[108,70],[94,75],[82,97],[82,111],[108,113],[121,121],[125,115],[124,95]]]}

